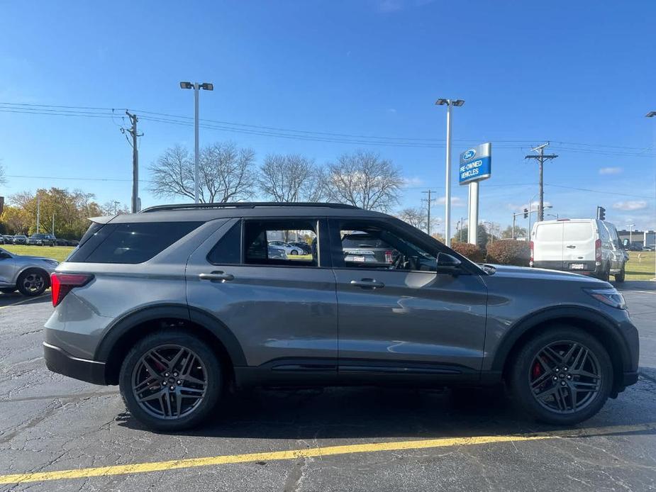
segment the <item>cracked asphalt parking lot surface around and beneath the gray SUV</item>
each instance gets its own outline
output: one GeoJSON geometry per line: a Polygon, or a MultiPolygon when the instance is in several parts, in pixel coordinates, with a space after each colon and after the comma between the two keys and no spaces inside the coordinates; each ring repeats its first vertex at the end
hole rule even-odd
{"type": "Polygon", "coordinates": [[[656,490],[656,283],[623,291],[640,381],[576,428],[492,392],[328,388],[235,396],[178,435],[144,430],[116,387],[51,374],[50,296],[0,294],[0,490],[656,490]]]}

